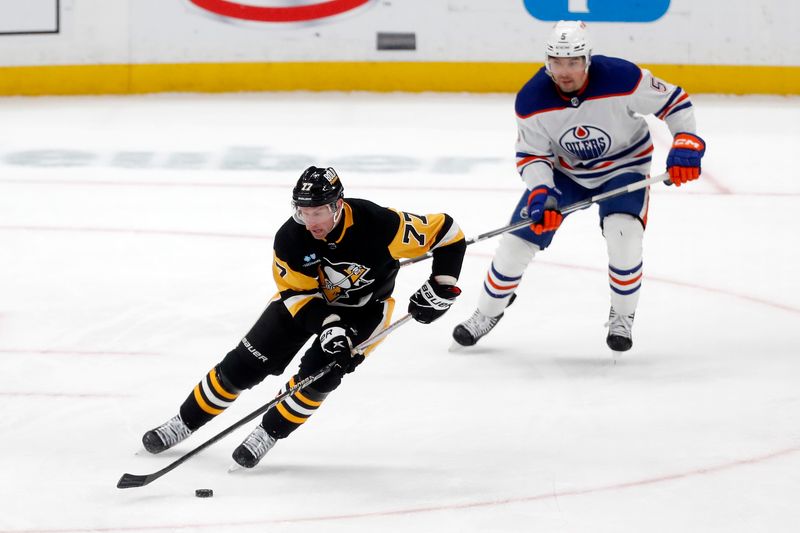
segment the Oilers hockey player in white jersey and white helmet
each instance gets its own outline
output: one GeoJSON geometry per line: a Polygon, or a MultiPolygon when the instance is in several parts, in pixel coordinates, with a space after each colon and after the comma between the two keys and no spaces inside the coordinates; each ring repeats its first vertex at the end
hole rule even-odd
{"type": "MultiPolygon", "coordinates": [[[[689,95],[631,62],[593,56],[583,22],[554,26],[545,66],[519,91],[515,107],[517,170],[527,190],[511,221],[528,217],[531,225],[502,236],[478,308],[453,330],[463,346],[491,331],[514,300],[526,267],[562,222],[559,206],[649,175],[653,142],[642,115],[665,121],[673,136],[672,183],[700,176],[705,142],[696,135],[689,95]]],[[[642,189],[599,204],[611,293],[606,342],[618,352],[633,344],[648,200],[649,190],[642,189]]]]}

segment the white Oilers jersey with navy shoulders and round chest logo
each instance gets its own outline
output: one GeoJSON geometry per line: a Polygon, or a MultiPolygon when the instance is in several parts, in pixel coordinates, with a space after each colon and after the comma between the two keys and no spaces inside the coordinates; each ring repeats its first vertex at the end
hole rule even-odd
{"type": "Polygon", "coordinates": [[[649,174],[653,142],[642,115],[673,136],[695,133],[689,95],[635,64],[593,56],[586,86],[559,91],[544,67],[519,91],[517,170],[529,189],[553,187],[553,169],[594,189],[625,172],[649,174]]]}

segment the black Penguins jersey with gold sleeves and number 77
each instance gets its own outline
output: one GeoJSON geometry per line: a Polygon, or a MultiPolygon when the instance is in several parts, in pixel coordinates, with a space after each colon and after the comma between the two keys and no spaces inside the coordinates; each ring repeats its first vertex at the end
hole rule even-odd
{"type": "Polygon", "coordinates": [[[464,233],[447,214],[414,215],[348,198],[325,240],[287,220],[275,235],[273,276],[280,299],[306,330],[336,309],[382,302],[394,290],[398,259],[433,251],[432,275],[458,278],[464,233]]]}

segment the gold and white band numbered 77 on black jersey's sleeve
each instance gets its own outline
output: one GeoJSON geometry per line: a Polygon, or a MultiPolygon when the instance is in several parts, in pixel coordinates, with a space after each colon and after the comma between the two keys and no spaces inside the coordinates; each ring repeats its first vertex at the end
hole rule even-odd
{"type": "Polygon", "coordinates": [[[464,238],[464,233],[452,218],[442,213],[415,215],[393,209],[400,217],[397,234],[389,244],[395,259],[414,258],[433,248],[447,246],[464,238]]]}

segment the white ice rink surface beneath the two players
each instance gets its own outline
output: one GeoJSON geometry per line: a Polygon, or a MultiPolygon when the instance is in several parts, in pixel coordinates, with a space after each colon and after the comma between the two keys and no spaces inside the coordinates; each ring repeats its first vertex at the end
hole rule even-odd
{"type": "MultiPolygon", "coordinates": [[[[468,250],[450,313],[391,335],[259,468],[226,471],[246,427],[123,491],[123,472],[159,470],[283,383],[135,454],[274,293],[299,172],[332,164],[349,196],[483,233],[521,192],[513,96],[0,100],[0,533],[796,531],[800,100],[694,101],[705,175],[652,190],[616,364],[592,209],[477,347],[448,351],[494,240],[468,250]]],[[[428,268],[401,272],[399,311],[428,268]]]]}

